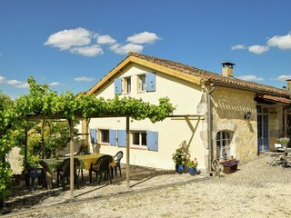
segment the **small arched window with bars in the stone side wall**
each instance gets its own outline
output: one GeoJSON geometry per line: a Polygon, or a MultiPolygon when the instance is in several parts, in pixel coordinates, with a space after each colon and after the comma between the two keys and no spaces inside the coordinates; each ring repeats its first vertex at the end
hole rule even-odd
{"type": "Polygon", "coordinates": [[[230,134],[226,131],[220,131],[216,135],[216,157],[217,159],[226,159],[230,156],[230,134]]]}

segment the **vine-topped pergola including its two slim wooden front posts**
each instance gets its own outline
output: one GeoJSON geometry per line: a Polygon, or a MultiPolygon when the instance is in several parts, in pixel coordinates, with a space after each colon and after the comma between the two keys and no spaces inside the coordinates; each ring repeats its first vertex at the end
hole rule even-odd
{"type": "MultiPolygon", "coordinates": [[[[115,95],[113,99],[105,100],[94,95],[71,92],[57,94],[49,89],[46,84],[36,84],[33,77],[27,80],[29,94],[25,94],[15,100],[15,111],[18,118],[22,119],[66,119],[70,124],[70,151],[71,151],[71,198],[74,198],[74,173],[73,150],[74,150],[74,121],[76,118],[101,118],[101,117],[126,117],[126,135],[128,139],[129,118],[144,120],[148,118],[152,123],[162,121],[166,116],[173,113],[175,107],[170,104],[169,98],[160,98],[159,104],[149,104],[142,99],[121,97],[115,95]]],[[[127,140],[128,143],[128,140],[127,140]]],[[[129,146],[126,146],[126,182],[129,187],[129,146]]]]}

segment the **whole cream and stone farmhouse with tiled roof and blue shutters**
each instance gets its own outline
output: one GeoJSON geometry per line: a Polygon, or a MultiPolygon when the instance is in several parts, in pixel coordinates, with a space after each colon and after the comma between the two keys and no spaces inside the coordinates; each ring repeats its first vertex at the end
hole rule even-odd
{"type": "MultiPolygon", "coordinates": [[[[234,64],[222,63],[222,74],[145,54],[129,53],[87,94],[105,99],[115,94],[157,104],[169,97],[176,106],[163,122],[130,123],[130,163],[174,169],[172,154],[186,142],[200,169],[233,156],[241,162],[273,144],[287,131],[288,89],[237,79],[234,64]]],[[[82,123],[91,134],[91,150],[104,154],[125,151],[125,118],[95,118],[82,123]]],[[[90,140],[86,138],[89,142],[90,140]]]]}

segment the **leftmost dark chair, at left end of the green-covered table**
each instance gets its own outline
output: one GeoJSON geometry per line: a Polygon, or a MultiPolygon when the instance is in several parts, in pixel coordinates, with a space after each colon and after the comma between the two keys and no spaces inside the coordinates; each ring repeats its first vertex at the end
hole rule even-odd
{"type": "Polygon", "coordinates": [[[42,170],[25,162],[25,184],[28,190],[34,191],[36,178],[38,185],[40,185],[42,183],[42,170]]]}

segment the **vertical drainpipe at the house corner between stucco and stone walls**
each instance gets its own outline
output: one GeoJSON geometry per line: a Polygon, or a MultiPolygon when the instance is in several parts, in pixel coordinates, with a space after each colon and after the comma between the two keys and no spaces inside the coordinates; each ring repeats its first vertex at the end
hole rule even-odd
{"type": "Polygon", "coordinates": [[[202,84],[202,88],[206,90],[207,94],[207,137],[208,137],[208,172],[209,175],[212,175],[212,153],[213,153],[213,147],[212,147],[212,116],[211,116],[211,93],[215,90],[215,85],[210,84],[211,89],[208,91],[204,84],[202,84]]]}

